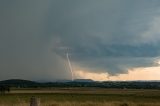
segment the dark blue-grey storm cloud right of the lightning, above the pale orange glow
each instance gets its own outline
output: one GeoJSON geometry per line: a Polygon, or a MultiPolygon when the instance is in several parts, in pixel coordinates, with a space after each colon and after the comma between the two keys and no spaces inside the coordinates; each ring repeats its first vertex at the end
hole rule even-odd
{"type": "MultiPolygon", "coordinates": [[[[62,26],[58,28],[62,29],[58,32],[60,47],[70,48],[74,62],[110,74],[157,65],[159,32],[153,29],[159,26],[155,25],[160,12],[158,1],[87,3],[71,5],[76,8],[66,12],[67,17],[62,17],[62,26]]],[[[55,52],[62,56],[64,53],[59,48],[55,52]]]]}

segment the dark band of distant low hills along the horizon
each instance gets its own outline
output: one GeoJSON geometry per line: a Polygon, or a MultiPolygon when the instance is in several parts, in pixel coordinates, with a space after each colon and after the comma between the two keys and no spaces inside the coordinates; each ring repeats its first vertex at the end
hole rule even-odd
{"type": "Polygon", "coordinates": [[[62,80],[55,82],[35,82],[22,79],[0,81],[0,86],[6,85],[15,88],[37,87],[100,87],[117,89],[160,89],[159,81],[104,81],[98,82],[91,79],[62,80]]]}

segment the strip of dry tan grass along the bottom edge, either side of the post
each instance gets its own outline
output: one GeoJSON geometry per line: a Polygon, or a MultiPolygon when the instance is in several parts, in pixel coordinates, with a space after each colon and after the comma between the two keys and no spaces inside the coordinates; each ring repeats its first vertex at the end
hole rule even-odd
{"type": "MultiPolygon", "coordinates": [[[[29,103],[0,104],[0,106],[29,106],[29,103]]],[[[133,103],[133,102],[48,102],[41,106],[160,106],[160,103],[133,103]]]]}

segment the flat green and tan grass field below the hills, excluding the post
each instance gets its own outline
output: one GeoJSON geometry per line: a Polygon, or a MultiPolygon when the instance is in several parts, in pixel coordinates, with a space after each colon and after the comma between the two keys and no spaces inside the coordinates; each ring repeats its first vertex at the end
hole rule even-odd
{"type": "Polygon", "coordinates": [[[14,89],[0,106],[29,106],[32,96],[41,106],[160,106],[160,90],[102,88],[14,89]]]}

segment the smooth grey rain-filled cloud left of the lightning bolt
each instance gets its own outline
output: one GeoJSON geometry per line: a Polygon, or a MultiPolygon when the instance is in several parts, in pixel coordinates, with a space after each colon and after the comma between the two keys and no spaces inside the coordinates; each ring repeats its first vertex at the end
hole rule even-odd
{"type": "Polygon", "coordinates": [[[64,60],[50,51],[50,1],[1,2],[5,6],[0,7],[0,79],[69,79],[64,60]]]}

